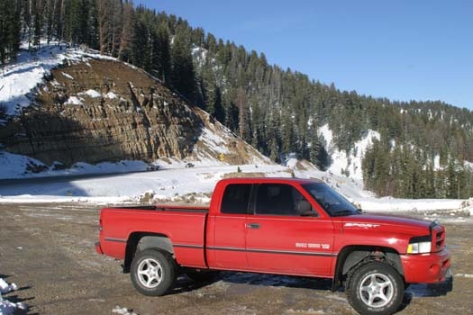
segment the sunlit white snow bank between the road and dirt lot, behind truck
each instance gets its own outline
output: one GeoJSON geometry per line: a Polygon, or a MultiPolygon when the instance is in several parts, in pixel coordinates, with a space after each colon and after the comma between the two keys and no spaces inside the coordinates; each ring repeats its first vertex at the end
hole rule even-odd
{"type": "MultiPolygon", "coordinates": [[[[0,202],[210,202],[216,182],[229,176],[276,176],[319,178],[358,204],[365,211],[461,211],[473,215],[473,199],[403,200],[377,198],[363,191],[355,180],[317,170],[308,162],[292,167],[270,164],[210,166],[209,161],[193,167],[179,160],[156,161],[158,171],[91,177],[44,178],[0,184],[0,202]]],[[[77,173],[79,172],[76,170],[77,173]]],[[[96,169],[96,171],[98,171],[96,169]]],[[[458,218],[456,218],[458,219],[458,218]]]]}

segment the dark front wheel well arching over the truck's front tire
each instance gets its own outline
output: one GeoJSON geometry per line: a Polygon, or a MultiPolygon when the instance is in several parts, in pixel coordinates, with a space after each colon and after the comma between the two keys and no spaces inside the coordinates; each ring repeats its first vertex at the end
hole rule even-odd
{"type": "Polygon", "coordinates": [[[335,266],[335,275],[333,277],[332,291],[338,290],[342,280],[350,273],[354,267],[359,264],[366,264],[369,261],[382,261],[393,266],[396,271],[404,278],[404,269],[399,257],[399,253],[390,247],[372,247],[372,246],[350,246],[341,249],[335,266]]]}

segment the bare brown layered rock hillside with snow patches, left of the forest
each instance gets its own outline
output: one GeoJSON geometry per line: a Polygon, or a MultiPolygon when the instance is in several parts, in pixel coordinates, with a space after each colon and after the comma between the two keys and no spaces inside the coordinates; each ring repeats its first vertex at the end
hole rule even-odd
{"type": "MultiPolygon", "coordinates": [[[[37,82],[28,91],[26,104],[31,105],[16,109],[16,114],[10,106],[12,115],[0,127],[6,152],[37,160],[30,163],[31,171],[67,168],[78,162],[151,163],[165,157],[226,164],[268,162],[139,68],[77,49],[60,51],[59,56],[54,46],[45,46],[35,56],[30,62],[24,57],[19,68],[2,78],[5,85],[37,82]],[[53,52],[62,61],[50,69],[53,62],[43,56],[50,58],[53,52]],[[23,76],[13,78],[18,72],[23,76]],[[44,73],[44,80],[34,76],[38,72],[44,73]]],[[[8,97],[22,100],[24,94],[20,89],[8,97]]]]}

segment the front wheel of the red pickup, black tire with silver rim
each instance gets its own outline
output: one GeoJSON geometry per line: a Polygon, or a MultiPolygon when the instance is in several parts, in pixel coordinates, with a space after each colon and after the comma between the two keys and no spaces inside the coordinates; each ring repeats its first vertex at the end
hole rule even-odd
{"type": "Polygon", "coordinates": [[[391,315],[403,302],[404,280],[392,266],[370,262],[350,273],[345,291],[359,314],[391,315]]]}

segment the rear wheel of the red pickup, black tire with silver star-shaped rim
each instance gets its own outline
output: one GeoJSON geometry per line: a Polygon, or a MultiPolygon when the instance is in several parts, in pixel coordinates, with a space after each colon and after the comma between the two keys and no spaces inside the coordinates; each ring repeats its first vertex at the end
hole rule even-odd
{"type": "Polygon", "coordinates": [[[176,264],[165,252],[145,249],[132,260],[132,284],[144,295],[160,296],[168,293],[176,280],[176,264]]]}

